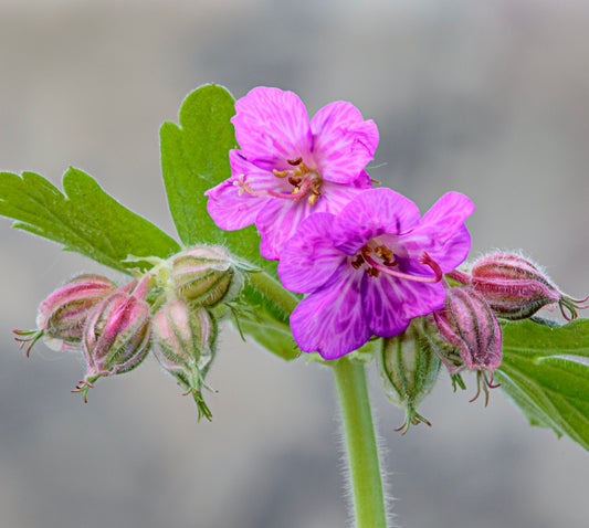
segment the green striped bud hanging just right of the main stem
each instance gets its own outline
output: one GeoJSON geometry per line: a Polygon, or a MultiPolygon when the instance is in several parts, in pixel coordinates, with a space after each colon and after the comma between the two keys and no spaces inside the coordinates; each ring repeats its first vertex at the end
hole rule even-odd
{"type": "Polygon", "coordinates": [[[423,335],[423,319],[413,319],[402,334],[382,340],[378,368],[387,398],[406,412],[404,423],[396,431],[404,434],[420,422],[431,425],[417,408],[435,384],[440,360],[423,335]]]}

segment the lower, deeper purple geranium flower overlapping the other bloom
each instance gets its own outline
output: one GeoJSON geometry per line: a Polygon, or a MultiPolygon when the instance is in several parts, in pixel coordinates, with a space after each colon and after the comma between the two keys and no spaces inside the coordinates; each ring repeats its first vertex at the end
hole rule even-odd
{"type": "Polygon", "coordinates": [[[336,359],[441,309],[443,274],[471,247],[464,220],[473,211],[467,197],[449,192],[420,218],[411,200],[381,188],[337,215],[305,219],[278,264],[284,287],[311,294],[291,315],[301,350],[336,359]]]}

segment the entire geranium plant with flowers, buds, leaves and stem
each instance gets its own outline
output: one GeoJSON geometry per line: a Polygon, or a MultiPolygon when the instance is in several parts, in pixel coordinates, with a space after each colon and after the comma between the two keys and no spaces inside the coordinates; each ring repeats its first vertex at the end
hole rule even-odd
{"type": "Polygon", "coordinates": [[[65,172],[63,192],[32,172],[1,172],[0,214],[14,226],[128,276],[70,279],[15,339],[28,356],[39,341],[83,355],[87,370],[71,390],[85,401],[102,378],[154,355],[199,420],[213,419],[207,374],[225,320],[286,361],[329,367],[360,528],[388,517],[371,365],[404,410],[402,434],[430,424],[418,408],[448,369],[455,389],[475,381],[473,400],[503,390],[532,424],[589,450],[589,323],[578,318],[588,298],[561,293],[519,252],[470,261],[472,201],[449,191],[421,214],[370,179],[378,140],[350,103],[309,119],[292,92],[256,87],[234,102],[202,86],[179,125],[161,127],[178,240],[80,169],[65,172]],[[565,324],[549,317],[555,307],[565,324]]]}

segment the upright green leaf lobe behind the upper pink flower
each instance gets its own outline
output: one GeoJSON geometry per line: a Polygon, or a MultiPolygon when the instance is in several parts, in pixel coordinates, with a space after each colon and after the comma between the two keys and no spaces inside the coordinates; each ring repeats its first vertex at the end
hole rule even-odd
{"type": "Polygon", "coordinates": [[[230,119],[234,114],[231,94],[211,84],[185,99],[180,126],[170,122],[161,126],[161,171],[170,212],[185,245],[221,244],[275,273],[276,264],[260,256],[260,235],[254,226],[222,231],[207,212],[204,191],[231,176],[229,150],[236,144],[230,119]]]}

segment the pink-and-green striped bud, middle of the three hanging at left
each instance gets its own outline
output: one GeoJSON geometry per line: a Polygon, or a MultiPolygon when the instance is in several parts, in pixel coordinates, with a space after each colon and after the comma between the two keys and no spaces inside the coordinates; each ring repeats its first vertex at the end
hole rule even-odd
{"type": "Polygon", "coordinates": [[[133,293],[136,281],[118,288],[90,313],[82,338],[87,371],[73,391],[83,392],[84,400],[98,378],[128,372],[147,356],[151,335],[145,300],[148,279],[146,275],[133,293]]]}

